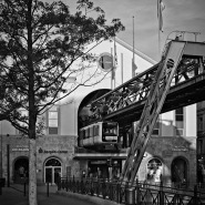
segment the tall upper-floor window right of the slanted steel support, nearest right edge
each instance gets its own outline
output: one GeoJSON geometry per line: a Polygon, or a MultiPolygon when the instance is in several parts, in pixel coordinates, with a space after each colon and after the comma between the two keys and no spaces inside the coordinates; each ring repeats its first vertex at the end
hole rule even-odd
{"type": "Polygon", "coordinates": [[[176,136],[184,135],[184,109],[180,107],[175,110],[175,134],[176,136]]]}

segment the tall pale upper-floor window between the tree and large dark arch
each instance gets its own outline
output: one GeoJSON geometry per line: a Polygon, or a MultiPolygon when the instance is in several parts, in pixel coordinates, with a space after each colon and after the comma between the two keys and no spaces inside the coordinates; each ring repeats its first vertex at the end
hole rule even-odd
{"type": "Polygon", "coordinates": [[[59,133],[59,112],[58,106],[52,106],[49,110],[49,134],[59,133]]]}

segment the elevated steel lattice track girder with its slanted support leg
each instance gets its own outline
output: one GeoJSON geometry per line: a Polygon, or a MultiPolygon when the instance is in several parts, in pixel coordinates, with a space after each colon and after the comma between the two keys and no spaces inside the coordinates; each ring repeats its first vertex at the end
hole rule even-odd
{"type": "Polygon", "coordinates": [[[158,114],[205,100],[204,91],[205,43],[172,40],[160,63],[89,104],[84,123],[139,121],[120,180],[132,185],[158,114]]]}

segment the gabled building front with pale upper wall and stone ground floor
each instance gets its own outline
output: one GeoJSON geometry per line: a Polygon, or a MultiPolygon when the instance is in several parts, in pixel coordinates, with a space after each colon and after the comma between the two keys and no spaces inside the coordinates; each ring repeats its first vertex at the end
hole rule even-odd
{"type": "MultiPolygon", "coordinates": [[[[96,72],[91,84],[79,86],[43,115],[44,135],[37,139],[37,177],[39,183],[55,183],[58,176],[119,177],[134,134],[134,126],[119,136],[121,146],[115,150],[79,147],[78,135],[82,117],[89,114],[88,101],[111,91],[141,73],[155,61],[116,39],[105,41],[93,51],[96,62],[88,66],[82,78],[96,72]],[[114,70],[112,69],[114,66],[114,70]],[[94,82],[93,82],[94,81],[94,82]],[[98,82],[98,83],[95,83],[98,82]]],[[[70,83],[71,84],[71,83],[70,83]]],[[[68,82],[68,86],[70,85],[68,82]]],[[[2,175],[18,182],[29,177],[29,144],[27,136],[2,121],[2,175]]],[[[137,177],[140,181],[162,181],[167,184],[196,182],[196,105],[177,109],[160,116],[137,177]]]]}

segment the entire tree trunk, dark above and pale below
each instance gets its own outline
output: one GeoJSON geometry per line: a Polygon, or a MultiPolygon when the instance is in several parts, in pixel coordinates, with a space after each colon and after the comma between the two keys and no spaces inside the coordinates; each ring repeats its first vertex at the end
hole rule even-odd
{"type": "Polygon", "coordinates": [[[34,68],[33,68],[33,48],[32,48],[32,0],[28,1],[28,73],[29,73],[29,205],[37,205],[37,145],[35,145],[35,123],[37,107],[34,99],[34,68]]]}

